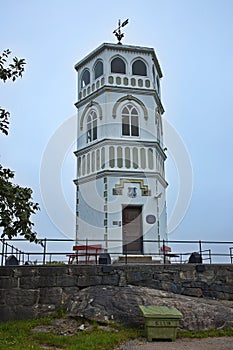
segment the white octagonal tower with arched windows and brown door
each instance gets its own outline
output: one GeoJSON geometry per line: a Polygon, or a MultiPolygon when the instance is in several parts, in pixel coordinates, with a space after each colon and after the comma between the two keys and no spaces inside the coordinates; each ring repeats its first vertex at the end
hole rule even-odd
{"type": "Polygon", "coordinates": [[[167,182],[154,50],[102,44],[75,69],[77,243],[156,255],[167,239],[167,182]]]}

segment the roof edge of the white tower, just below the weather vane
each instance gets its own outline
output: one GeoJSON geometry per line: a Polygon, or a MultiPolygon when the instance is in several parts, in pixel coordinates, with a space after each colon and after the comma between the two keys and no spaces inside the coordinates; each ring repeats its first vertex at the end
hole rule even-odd
{"type": "Polygon", "coordinates": [[[114,51],[128,51],[128,52],[137,52],[137,53],[145,53],[145,54],[151,54],[152,59],[154,61],[154,64],[157,68],[157,72],[159,74],[159,77],[162,78],[162,70],[159,65],[159,61],[157,59],[157,56],[155,54],[155,51],[153,48],[150,47],[143,47],[143,46],[133,46],[133,45],[119,45],[119,44],[109,44],[109,43],[103,43],[100,46],[98,46],[95,50],[93,50],[91,53],[89,53],[86,57],[84,57],[81,61],[76,63],[74,68],[76,70],[79,70],[82,66],[84,66],[88,61],[90,61],[92,58],[97,56],[99,53],[107,50],[114,50],[114,51]]]}

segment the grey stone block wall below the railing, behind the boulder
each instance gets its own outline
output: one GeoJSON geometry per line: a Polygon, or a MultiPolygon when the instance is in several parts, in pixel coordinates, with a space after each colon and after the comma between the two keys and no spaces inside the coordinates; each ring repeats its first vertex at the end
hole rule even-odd
{"type": "Polygon", "coordinates": [[[51,265],[0,267],[0,320],[45,316],[96,285],[146,286],[233,300],[233,265],[51,265]]]}

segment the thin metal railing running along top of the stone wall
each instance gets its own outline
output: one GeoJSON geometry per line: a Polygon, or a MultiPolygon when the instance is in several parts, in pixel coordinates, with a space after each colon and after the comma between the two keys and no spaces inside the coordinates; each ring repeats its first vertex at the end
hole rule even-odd
{"type": "MultiPolygon", "coordinates": [[[[36,245],[29,243],[25,239],[0,239],[1,266],[6,265],[6,261],[11,255],[17,258],[20,265],[68,263],[67,256],[73,252],[75,240],[44,238],[41,241],[42,245],[36,245]]],[[[193,252],[197,252],[203,263],[233,263],[233,242],[144,240],[143,243],[149,243],[150,247],[155,247],[154,251],[150,250],[148,254],[141,254],[143,256],[151,256],[153,262],[184,264],[188,263],[193,252]],[[171,247],[171,251],[167,252],[160,248],[158,252],[158,247],[164,247],[168,244],[171,247]]],[[[101,244],[103,247],[102,252],[108,252],[115,262],[119,260],[119,257],[121,257],[121,262],[126,264],[132,260],[130,259],[132,252],[127,251],[127,245],[124,245],[124,251],[122,252],[122,240],[108,240],[107,242],[103,240],[80,240],[78,244],[86,245],[86,252],[89,245],[101,244]]],[[[83,261],[81,259],[81,263],[88,262],[87,256],[83,257],[83,261]]]]}

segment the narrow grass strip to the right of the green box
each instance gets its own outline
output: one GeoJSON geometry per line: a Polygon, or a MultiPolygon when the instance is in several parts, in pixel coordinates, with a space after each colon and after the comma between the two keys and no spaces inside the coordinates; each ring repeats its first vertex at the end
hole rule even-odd
{"type": "Polygon", "coordinates": [[[208,337],[233,337],[233,328],[211,329],[209,331],[179,330],[177,332],[177,338],[208,338],[208,337]]]}

